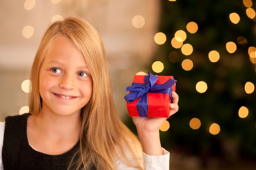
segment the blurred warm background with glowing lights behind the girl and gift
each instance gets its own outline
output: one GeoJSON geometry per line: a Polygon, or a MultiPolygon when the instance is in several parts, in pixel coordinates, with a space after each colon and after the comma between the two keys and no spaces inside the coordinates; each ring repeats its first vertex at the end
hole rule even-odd
{"type": "Polygon", "coordinates": [[[115,104],[136,133],[124,89],[135,74],[173,75],[180,110],[161,128],[171,170],[256,167],[256,2],[0,1],[0,121],[29,111],[29,71],[46,28],[80,16],[100,33],[115,104]]]}

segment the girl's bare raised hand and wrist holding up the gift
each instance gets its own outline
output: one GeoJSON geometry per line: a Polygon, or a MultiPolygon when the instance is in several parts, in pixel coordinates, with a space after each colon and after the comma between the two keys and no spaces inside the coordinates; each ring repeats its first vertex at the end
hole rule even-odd
{"type": "MultiPolygon", "coordinates": [[[[170,115],[179,110],[179,96],[172,92],[173,103],[170,104],[170,115]]],[[[148,155],[162,155],[162,147],[159,139],[159,128],[167,118],[164,117],[132,117],[137,128],[143,151],[148,155]]]]}

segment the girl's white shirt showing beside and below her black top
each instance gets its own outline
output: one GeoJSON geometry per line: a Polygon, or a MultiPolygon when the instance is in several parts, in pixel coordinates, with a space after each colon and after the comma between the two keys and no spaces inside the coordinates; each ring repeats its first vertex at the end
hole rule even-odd
{"type": "MultiPolygon", "coordinates": [[[[5,122],[0,122],[0,170],[4,170],[2,164],[2,147],[4,141],[4,126],[5,122]]],[[[144,170],[169,170],[170,153],[162,148],[163,155],[150,156],[143,152],[144,170]]],[[[116,161],[117,170],[137,170],[130,168],[121,161],[116,161]]]]}

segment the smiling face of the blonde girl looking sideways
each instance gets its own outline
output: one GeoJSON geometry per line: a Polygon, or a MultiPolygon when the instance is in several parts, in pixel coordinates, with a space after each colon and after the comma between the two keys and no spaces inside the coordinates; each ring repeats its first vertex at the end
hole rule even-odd
{"type": "Polygon", "coordinates": [[[82,53],[65,36],[47,50],[39,74],[41,113],[80,114],[92,95],[92,78],[82,53]]]}

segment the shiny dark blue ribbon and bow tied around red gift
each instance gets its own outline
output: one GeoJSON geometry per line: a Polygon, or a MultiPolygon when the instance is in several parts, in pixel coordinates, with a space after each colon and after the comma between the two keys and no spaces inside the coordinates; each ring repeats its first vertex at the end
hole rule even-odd
{"type": "Polygon", "coordinates": [[[148,117],[148,92],[150,93],[166,93],[169,94],[171,100],[172,86],[177,82],[175,79],[168,79],[164,84],[155,84],[158,77],[149,73],[144,76],[143,83],[132,83],[132,86],[127,86],[125,91],[130,91],[124,96],[126,102],[131,103],[141,97],[137,102],[137,110],[140,117],[148,117]]]}

